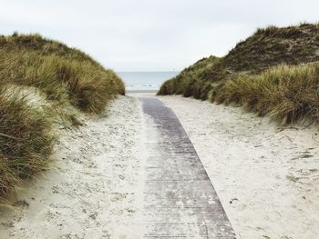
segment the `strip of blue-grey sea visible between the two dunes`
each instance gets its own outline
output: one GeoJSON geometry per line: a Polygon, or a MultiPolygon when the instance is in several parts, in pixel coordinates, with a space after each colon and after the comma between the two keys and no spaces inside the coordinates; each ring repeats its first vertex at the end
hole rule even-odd
{"type": "Polygon", "coordinates": [[[160,85],[180,72],[118,72],[127,91],[158,91],[160,85]]]}

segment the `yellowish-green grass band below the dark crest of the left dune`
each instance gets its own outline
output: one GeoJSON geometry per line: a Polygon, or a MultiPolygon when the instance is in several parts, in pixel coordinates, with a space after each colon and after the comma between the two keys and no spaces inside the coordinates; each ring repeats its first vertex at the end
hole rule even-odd
{"type": "Polygon", "coordinates": [[[69,102],[84,112],[101,113],[110,99],[125,94],[118,75],[90,61],[28,51],[0,53],[5,55],[0,59],[0,82],[37,87],[48,100],[69,102]]]}

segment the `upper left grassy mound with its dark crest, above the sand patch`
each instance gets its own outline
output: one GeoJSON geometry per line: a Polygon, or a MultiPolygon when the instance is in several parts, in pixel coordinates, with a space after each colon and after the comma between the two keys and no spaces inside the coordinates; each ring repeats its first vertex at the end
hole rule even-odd
{"type": "Polygon", "coordinates": [[[113,71],[39,35],[0,37],[0,75],[3,84],[38,87],[48,100],[69,102],[85,112],[100,113],[110,98],[125,94],[113,71]]]}

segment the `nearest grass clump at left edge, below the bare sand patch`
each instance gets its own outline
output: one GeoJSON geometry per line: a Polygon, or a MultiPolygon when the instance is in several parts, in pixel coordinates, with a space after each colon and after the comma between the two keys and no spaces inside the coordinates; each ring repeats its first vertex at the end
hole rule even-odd
{"type": "Polygon", "coordinates": [[[46,169],[55,136],[42,109],[29,105],[19,90],[0,89],[0,196],[46,169]]]}

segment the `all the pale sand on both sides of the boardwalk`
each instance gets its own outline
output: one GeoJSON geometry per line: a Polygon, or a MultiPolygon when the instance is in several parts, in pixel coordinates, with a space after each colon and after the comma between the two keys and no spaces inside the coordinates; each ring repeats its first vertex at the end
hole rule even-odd
{"type": "Polygon", "coordinates": [[[319,135],[242,108],[130,93],[67,130],[52,167],[2,208],[4,238],[141,238],[145,119],[139,97],[170,107],[190,137],[238,238],[316,238],[319,135]]]}

